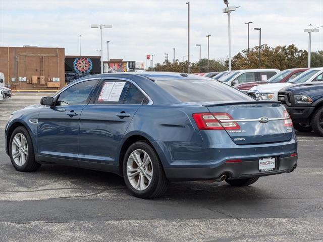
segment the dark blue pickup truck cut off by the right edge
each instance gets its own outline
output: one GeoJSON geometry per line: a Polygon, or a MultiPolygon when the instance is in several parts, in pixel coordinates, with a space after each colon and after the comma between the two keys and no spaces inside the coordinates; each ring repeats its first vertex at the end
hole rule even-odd
{"type": "Polygon", "coordinates": [[[287,86],[278,92],[278,101],[285,105],[296,130],[314,130],[323,136],[323,82],[287,86]]]}

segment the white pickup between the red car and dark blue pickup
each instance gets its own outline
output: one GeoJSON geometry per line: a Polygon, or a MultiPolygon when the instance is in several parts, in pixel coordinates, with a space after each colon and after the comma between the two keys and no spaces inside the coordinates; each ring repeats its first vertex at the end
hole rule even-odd
{"type": "Polygon", "coordinates": [[[278,91],[289,85],[304,83],[304,82],[315,82],[321,80],[323,76],[323,68],[312,68],[303,72],[294,79],[283,82],[283,83],[273,83],[273,84],[264,84],[260,86],[254,86],[250,88],[247,94],[253,97],[256,100],[278,100],[278,91]]]}

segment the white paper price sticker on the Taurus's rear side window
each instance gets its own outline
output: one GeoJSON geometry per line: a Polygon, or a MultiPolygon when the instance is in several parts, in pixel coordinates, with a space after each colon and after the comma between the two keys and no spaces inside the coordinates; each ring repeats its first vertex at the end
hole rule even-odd
{"type": "Polygon", "coordinates": [[[105,82],[100,92],[98,102],[119,102],[125,82],[105,82]]]}

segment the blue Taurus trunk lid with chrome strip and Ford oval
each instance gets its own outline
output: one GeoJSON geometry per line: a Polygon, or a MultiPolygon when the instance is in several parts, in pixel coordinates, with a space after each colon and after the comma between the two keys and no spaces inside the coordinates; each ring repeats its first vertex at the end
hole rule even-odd
{"type": "MultiPolygon", "coordinates": [[[[228,113],[239,127],[226,129],[232,141],[238,145],[288,141],[292,127],[288,126],[288,113],[279,102],[254,101],[236,103],[203,104],[211,113],[220,113],[221,124],[229,123],[223,113],[228,113]],[[283,119],[285,118],[285,119],[283,119]]],[[[215,115],[215,114],[214,114],[215,115]]],[[[232,122],[231,122],[232,124],[232,122]]]]}

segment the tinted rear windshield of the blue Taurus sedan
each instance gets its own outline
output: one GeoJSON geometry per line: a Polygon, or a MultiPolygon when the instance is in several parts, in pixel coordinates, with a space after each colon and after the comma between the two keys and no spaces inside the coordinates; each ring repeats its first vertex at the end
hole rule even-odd
{"type": "Polygon", "coordinates": [[[155,83],[181,102],[254,101],[227,84],[212,80],[165,80],[155,83]]]}

